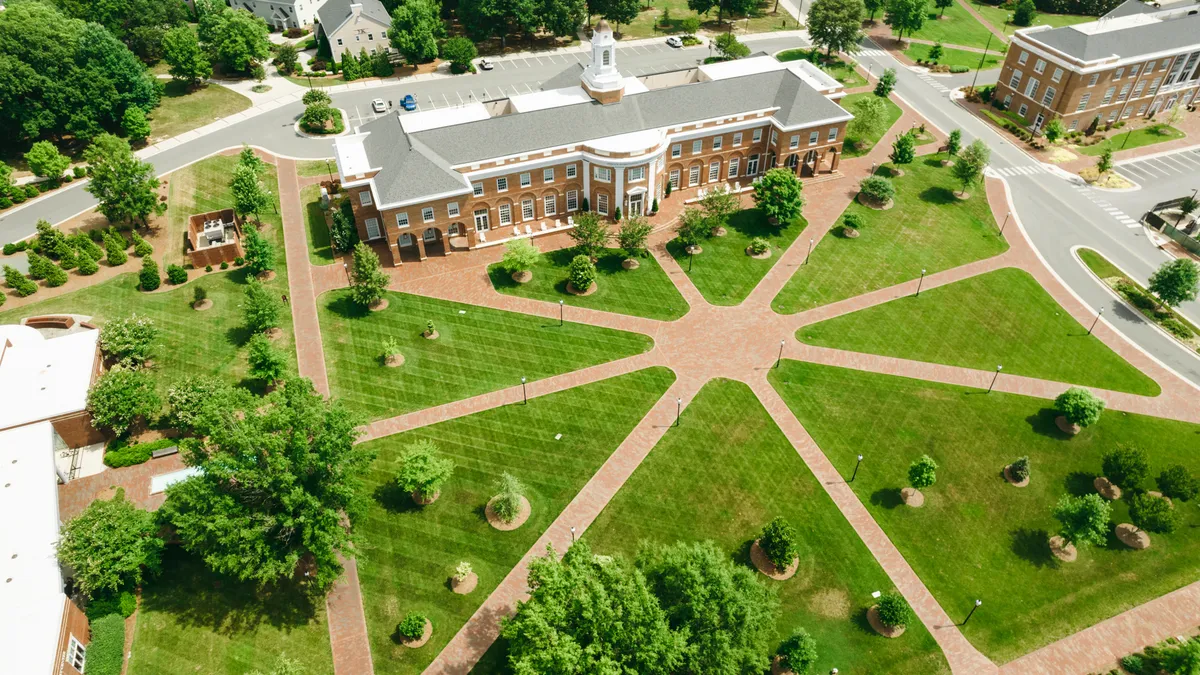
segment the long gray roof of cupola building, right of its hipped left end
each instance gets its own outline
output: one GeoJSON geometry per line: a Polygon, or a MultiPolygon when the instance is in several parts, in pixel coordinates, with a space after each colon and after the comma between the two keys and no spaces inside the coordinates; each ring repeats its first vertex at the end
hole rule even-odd
{"type": "MultiPolygon", "coordinates": [[[[775,119],[784,126],[851,118],[838,103],[790,71],[780,70],[643,91],[610,106],[575,103],[431,129],[412,136],[450,165],[468,165],[776,106],[780,110],[775,119]]],[[[395,133],[388,136],[392,143],[402,143],[395,133]]],[[[378,166],[374,155],[368,156],[371,163],[378,166]]]]}

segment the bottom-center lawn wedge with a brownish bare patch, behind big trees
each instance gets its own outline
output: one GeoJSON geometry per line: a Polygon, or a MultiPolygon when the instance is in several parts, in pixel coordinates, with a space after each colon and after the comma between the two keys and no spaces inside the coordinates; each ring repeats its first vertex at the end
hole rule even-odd
{"type": "MultiPolygon", "coordinates": [[[[781,641],[800,626],[817,641],[815,673],[947,673],[932,637],[913,621],[888,640],[866,623],[871,592],[892,583],[804,460],[740,382],[704,384],[584,534],[596,552],[634,556],[641,542],[713,539],[751,566],[750,542],[782,515],[800,539],[791,580],[758,577],[779,592],[781,641]]],[[[751,566],[752,569],[752,566],[751,566]]]]}

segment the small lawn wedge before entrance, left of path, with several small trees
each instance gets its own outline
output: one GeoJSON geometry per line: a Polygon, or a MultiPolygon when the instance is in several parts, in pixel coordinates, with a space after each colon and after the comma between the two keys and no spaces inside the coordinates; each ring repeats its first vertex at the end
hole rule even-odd
{"type": "Polygon", "coordinates": [[[632,316],[644,316],[673,321],[688,313],[688,301],[671,283],[666,273],[652,256],[638,258],[637,269],[620,267],[625,253],[619,249],[606,249],[596,259],[596,291],[581,297],[566,292],[566,269],[576,256],[575,249],[547,251],[533,268],[533,280],[527,283],[512,281],[512,275],[502,263],[487,268],[492,286],[500,293],[589,307],[632,316]]]}

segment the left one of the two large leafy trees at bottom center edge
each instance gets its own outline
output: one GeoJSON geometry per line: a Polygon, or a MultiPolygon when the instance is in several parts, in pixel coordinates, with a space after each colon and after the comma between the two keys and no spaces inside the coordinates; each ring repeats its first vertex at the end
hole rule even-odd
{"type": "Polygon", "coordinates": [[[514,673],[670,675],[684,638],[624,556],[600,558],[586,540],[529,562],[529,599],[503,619],[514,673]]]}

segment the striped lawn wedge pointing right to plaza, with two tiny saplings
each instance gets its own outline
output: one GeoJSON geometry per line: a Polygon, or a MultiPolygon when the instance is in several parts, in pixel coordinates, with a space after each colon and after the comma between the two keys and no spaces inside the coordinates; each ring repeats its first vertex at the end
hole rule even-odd
{"type": "Polygon", "coordinates": [[[325,364],[334,394],[376,419],[534,382],[648,351],[646,335],[388,293],[388,309],[367,312],[348,291],[318,299],[325,364]],[[462,312],[462,313],[461,313],[462,312]],[[437,340],[421,336],[433,321],[437,340]],[[388,368],[388,338],[404,365],[388,368]]]}

